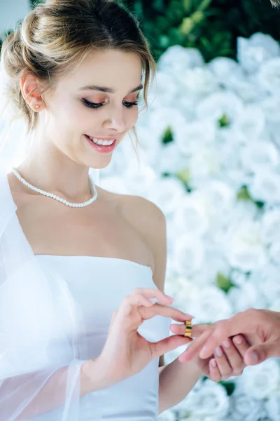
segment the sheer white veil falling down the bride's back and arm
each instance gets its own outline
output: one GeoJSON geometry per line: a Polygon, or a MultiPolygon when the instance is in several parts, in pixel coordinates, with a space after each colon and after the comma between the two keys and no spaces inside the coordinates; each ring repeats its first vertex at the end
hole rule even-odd
{"type": "MultiPolygon", "coordinates": [[[[83,319],[67,283],[43,270],[20,226],[6,175],[28,142],[22,121],[8,128],[2,67],[0,76],[0,420],[81,421],[84,400],[98,396],[83,363],[97,355],[78,347],[83,319]]],[[[91,173],[98,183],[99,171],[91,173]]],[[[101,420],[92,410],[91,419],[101,420]]]]}

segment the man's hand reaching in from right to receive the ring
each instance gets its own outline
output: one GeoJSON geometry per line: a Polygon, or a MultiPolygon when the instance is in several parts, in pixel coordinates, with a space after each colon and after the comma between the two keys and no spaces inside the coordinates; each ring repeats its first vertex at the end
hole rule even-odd
{"type": "Polygon", "coordinates": [[[248,309],[228,320],[209,325],[209,328],[193,340],[188,349],[181,354],[179,361],[189,361],[198,355],[207,359],[227,338],[239,334],[251,345],[244,354],[246,366],[280,356],[280,313],[265,309],[248,309]]]}

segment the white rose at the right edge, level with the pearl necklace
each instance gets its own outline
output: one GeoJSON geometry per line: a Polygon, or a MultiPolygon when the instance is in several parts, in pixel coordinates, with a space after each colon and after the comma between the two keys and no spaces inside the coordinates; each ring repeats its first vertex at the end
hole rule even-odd
{"type": "Polygon", "coordinates": [[[248,184],[248,191],[255,201],[279,203],[280,175],[270,170],[258,172],[248,184]]]}

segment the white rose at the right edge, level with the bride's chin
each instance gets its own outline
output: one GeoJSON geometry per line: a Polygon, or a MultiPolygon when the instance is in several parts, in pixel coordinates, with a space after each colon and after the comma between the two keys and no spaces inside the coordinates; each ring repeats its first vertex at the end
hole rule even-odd
{"type": "Polygon", "coordinates": [[[247,143],[240,151],[241,162],[248,171],[258,173],[279,166],[280,156],[272,142],[247,143]]]}

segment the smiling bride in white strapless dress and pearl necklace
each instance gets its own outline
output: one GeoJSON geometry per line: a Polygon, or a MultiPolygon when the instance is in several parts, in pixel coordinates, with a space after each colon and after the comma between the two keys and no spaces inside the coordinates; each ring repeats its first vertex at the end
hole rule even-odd
{"type": "Polygon", "coordinates": [[[1,66],[2,98],[32,136],[16,168],[5,159],[22,133],[1,149],[0,420],[152,421],[202,373],[241,373],[248,346],[230,339],[164,365],[190,340],[169,335],[171,320],[191,319],[164,293],[165,216],[90,172],[133,131],[155,70],[134,16],[47,1],[4,40],[1,66]]]}

